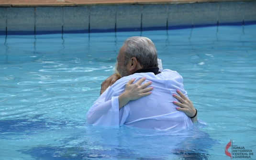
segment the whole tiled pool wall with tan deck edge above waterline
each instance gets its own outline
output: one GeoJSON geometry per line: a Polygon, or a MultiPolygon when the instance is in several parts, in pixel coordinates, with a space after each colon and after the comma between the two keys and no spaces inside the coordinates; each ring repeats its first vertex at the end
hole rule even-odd
{"type": "Polygon", "coordinates": [[[0,0],[0,35],[256,23],[256,0],[0,0]]]}

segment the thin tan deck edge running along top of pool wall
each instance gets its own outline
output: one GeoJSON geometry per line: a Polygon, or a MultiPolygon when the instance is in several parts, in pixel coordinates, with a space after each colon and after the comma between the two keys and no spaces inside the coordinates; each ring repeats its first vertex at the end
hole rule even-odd
{"type": "Polygon", "coordinates": [[[100,4],[178,4],[254,0],[0,0],[0,7],[61,7],[100,4]]]}

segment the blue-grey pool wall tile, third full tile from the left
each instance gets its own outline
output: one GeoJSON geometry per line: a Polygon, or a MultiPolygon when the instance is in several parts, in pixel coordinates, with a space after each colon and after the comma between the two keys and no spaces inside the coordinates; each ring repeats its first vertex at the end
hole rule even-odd
{"type": "Polygon", "coordinates": [[[89,7],[63,7],[63,32],[88,33],[89,7]]]}

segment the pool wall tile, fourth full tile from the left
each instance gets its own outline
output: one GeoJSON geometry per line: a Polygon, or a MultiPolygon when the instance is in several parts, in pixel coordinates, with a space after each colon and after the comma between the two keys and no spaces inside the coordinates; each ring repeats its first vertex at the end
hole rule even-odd
{"type": "Polygon", "coordinates": [[[114,32],[116,6],[97,5],[90,7],[89,32],[114,32]]]}

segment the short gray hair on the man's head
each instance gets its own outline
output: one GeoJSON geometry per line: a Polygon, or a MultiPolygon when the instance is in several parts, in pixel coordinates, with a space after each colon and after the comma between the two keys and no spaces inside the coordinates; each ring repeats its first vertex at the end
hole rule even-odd
{"type": "Polygon", "coordinates": [[[146,37],[130,37],[123,44],[124,65],[128,64],[129,59],[135,57],[142,68],[158,67],[157,52],[154,43],[146,37]]]}

